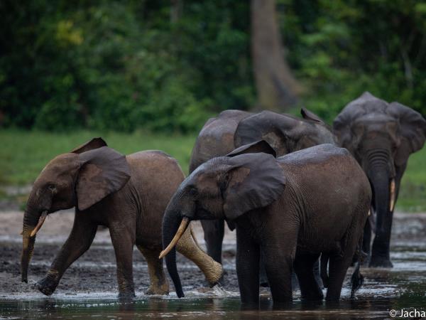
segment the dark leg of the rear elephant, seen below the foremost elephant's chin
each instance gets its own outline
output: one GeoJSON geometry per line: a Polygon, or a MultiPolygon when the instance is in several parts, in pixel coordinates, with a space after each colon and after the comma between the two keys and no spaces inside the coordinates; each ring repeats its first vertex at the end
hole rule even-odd
{"type": "Polygon", "coordinates": [[[215,261],[222,263],[222,242],[224,240],[225,221],[201,220],[202,230],[204,230],[204,240],[207,246],[207,254],[215,261]]]}

